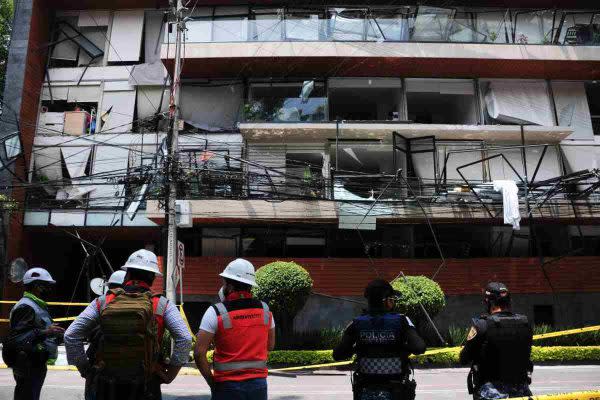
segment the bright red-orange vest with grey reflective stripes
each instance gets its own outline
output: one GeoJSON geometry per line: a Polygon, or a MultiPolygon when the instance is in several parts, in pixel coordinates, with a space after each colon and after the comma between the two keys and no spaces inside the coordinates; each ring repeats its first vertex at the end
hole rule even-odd
{"type": "Polygon", "coordinates": [[[267,377],[269,307],[254,298],[212,306],[218,319],[213,356],[216,382],[267,377]]]}

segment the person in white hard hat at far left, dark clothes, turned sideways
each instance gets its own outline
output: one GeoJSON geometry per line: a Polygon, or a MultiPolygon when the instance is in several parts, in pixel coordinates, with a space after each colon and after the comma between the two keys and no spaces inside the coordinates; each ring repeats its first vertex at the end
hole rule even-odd
{"type": "Polygon", "coordinates": [[[25,293],[10,311],[10,334],[3,351],[17,382],[15,400],[38,400],[46,364],[56,360],[65,330],[52,321],[44,301],[56,281],[44,268],[31,268],[23,277],[25,293]]]}

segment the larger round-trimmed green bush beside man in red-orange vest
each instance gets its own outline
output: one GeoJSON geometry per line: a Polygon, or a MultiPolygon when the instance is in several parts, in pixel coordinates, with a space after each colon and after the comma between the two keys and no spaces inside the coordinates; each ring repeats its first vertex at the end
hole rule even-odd
{"type": "Polygon", "coordinates": [[[256,271],[254,296],[265,301],[283,332],[291,332],[294,317],[312,291],[310,274],[295,262],[275,261],[256,271]]]}

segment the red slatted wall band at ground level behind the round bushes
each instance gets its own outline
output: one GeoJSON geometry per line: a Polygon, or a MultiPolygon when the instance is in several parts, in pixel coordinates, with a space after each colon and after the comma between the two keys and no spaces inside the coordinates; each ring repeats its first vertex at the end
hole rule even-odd
{"type": "MultiPolygon", "coordinates": [[[[221,286],[219,273],[232,258],[188,257],[184,272],[184,294],[213,295],[221,286]]],[[[249,258],[258,268],[273,258],[249,258]]],[[[377,275],[369,261],[361,258],[296,258],[314,280],[314,290],[335,296],[362,296],[364,287],[377,275]]],[[[440,260],[375,259],[374,266],[385,279],[400,271],[405,275],[432,276],[440,260]]],[[[600,292],[600,257],[566,257],[546,266],[556,292],[600,292]]],[[[480,294],[489,281],[501,281],[514,293],[552,293],[537,258],[448,259],[438,278],[450,296],[480,294]]],[[[155,290],[162,290],[162,279],[155,290]]]]}

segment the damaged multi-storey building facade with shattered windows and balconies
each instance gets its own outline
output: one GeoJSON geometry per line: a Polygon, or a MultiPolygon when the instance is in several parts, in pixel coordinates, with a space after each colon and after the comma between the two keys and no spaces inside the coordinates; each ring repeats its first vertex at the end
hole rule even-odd
{"type": "MultiPolygon", "coordinates": [[[[178,210],[191,310],[241,256],[309,270],[299,330],[360,309],[319,294],[356,300],[400,271],[440,283],[446,327],[480,311],[490,280],[536,323],[600,317],[600,9],[261,3],[186,11],[178,210]],[[518,230],[499,181],[516,184],[518,230]]],[[[19,133],[3,177],[24,206],[7,260],[48,265],[61,294],[84,299],[134,249],[165,253],[175,27],[160,1],[28,0],[16,21],[14,112],[0,129],[19,133]]]]}

